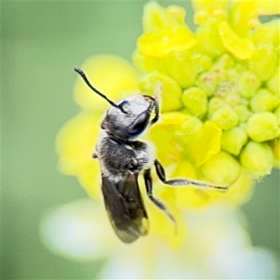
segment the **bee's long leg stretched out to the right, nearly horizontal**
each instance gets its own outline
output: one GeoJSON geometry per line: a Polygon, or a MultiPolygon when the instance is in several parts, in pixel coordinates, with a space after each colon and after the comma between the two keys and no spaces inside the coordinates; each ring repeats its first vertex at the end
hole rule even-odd
{"type": "Polygon", "coordinates": [[[158,160],[155,160],[155,170],[158,174],[158,177],[160,178],[160,181],[170,186],[192,185],[192,186],[197,186],[198,188],[216,188],[218,190],[228,190],[228,186],[215,186],[202,181],[193,181],[188,179],[167,180],[165,177],[165,169],[163,169],[162,165],[158,160]]]}

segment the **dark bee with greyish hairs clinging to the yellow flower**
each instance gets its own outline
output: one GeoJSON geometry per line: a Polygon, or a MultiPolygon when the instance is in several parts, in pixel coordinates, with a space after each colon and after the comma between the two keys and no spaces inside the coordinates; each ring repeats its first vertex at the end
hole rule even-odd
{"type": "Polygon", "coordinates": [[[165,204],[153,196],[153,166],[160,181],[169,186],[228,188],[189,179],[167,180],[165,169],[155,157],[153,146],[138,140],[160,118],[160,83],[155,87],[155,97],[137,94],[120,102],[112,102],[92,86],[81,69],[75,67],[74,70],[95,93],[111,104],[102,121],[93,158],[98,158],[100,162],[104,204],[113,230],[120,240],[131,243],[148,234],[148,214],[138,183],[140,174],[144,176],[148,198],[176,225],[174,216],[165,204]]]}

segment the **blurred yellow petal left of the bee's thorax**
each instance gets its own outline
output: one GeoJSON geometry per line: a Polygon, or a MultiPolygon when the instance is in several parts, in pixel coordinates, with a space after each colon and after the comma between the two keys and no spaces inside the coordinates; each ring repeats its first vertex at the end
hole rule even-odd
{"type": "Polygon", "coordinates": [[[61,128],[56,141],[59,169],[66,175],[77,176],[92,197],[100,195],[99,162],[92,158],[100,123],[99,115],[82,112],[61,128]]]}

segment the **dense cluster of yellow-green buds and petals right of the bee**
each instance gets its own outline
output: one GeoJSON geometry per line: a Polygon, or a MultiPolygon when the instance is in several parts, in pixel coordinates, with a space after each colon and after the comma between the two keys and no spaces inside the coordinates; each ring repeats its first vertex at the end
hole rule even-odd
{"type": "MultiPolygon", "coordinates": [[[[165,165],[178,164],[174,175],[237,185],[223,200],[239,204],[246,189],[237,198],[237,188],[279,165],[279,20],[258,20],[279,13],[279,3],[193,1],[193,7],[195,33],[179,6],[151,2],[144,10],[133,55],[139,87],[152,94],[156,80],[163,85],[163,121],[151,139],[165,165]]],[[[221,194],[180,190],[178,197],[198,205],[221,194]]]]}

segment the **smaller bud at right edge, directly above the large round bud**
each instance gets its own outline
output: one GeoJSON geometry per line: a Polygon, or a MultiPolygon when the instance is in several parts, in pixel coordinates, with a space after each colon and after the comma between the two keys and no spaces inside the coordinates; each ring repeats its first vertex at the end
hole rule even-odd
{"type": "Polygon", "coordinates": [[[254,112],[272,111],[279,104],[279,97],[268,90],[259,90],[251,99],[250,105],[254,112]]]}

